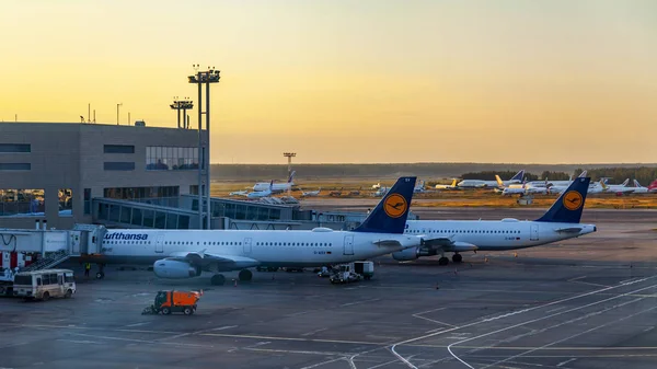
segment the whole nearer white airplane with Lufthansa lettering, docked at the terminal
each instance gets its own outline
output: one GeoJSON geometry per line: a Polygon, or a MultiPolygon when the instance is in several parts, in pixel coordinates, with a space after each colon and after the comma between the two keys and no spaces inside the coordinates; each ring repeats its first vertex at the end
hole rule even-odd
{"type": "Polygon", "coordinates": [[[211,284],[222,285],[221,272],[240,270],[240,280],[251,280],[249,268],[256,266],[315,267],[390,254],[420,244],[417,235],[404,234],[415,181],[399,178],[353,231],[111,229],[90,263],[153,263],[155,276],[170,279],[215,272],[211,284]]]}

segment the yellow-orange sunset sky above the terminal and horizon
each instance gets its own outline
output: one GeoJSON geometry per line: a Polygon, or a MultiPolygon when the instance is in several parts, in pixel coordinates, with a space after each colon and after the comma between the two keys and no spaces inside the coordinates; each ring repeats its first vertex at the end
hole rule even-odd
{"type": "Polygon", "coordinates": [[[175,127],[198,62],[212,162],[657,162],[657,1],[16,0],[0,31],[5,122],[175,127]]]}

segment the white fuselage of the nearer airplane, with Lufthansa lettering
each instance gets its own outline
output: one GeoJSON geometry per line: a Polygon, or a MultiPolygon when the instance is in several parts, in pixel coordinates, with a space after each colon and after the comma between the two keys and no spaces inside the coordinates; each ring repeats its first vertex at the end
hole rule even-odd
{"type": "MultiPolygon", "coordinates": [[[[367,260],[419,244],[411,234],[272,230],[108,230],[99,263],[153,263],[176,252],[204,252],[257,261],[252,266],[322,266],[367,260]],[[396,240],[400,245],[378,245],[396,240]]],[[[94,261],[95,262],[95,261],[94,261]]],[[[234,269],[234,268],[231,268],[234,269]]]]}

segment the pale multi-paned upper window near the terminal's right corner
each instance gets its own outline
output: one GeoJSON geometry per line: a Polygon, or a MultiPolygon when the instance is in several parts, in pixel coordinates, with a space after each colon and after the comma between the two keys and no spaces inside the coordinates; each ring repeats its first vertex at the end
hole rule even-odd
{"type": "Polygon", "coordinates": [[[149,146],[146,148],[147,171],[184,171],[198,169],[198,148],[149,146]]]}

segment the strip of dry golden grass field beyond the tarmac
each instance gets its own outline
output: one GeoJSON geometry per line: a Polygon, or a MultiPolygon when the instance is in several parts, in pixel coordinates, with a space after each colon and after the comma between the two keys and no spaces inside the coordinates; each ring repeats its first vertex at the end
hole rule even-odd
{"type": "MultiPolygon", "coordinates": [[[[372,198],[374,189],[371,180],[353,178],[341,182],[312,181],[304,182],[291,192],[296,198],[301,197],[301,191],[316,191],[322,188],[319,198],[331,201],[337,197],[330,196],[331,192],[342,192],[339,198],[372,198]],[[349,195],[350,192],[360,192],[359,195],[349,195]]],[[[383,184],[391,185],[391,184],[383,184]]],[[[210,191],[215,197],[228,197],[235,191],[252,191],[253,182],[214,182],[210,191]]],[[[445,191],[426,194],[416,194],[413,206],[418,207],[495,207],[495,208],[520,208],[540,207],[545,208],[554,203],[556,195],[535,195],[532,205],[518,205],[517,196],[507,197],[492,189],[475,191],[445,191]]],[[[586,200],[587,208],[616,208],[616,209],[657,209],[657,194],[616,196],[614,194],[589,195],[586,200]]]]}

